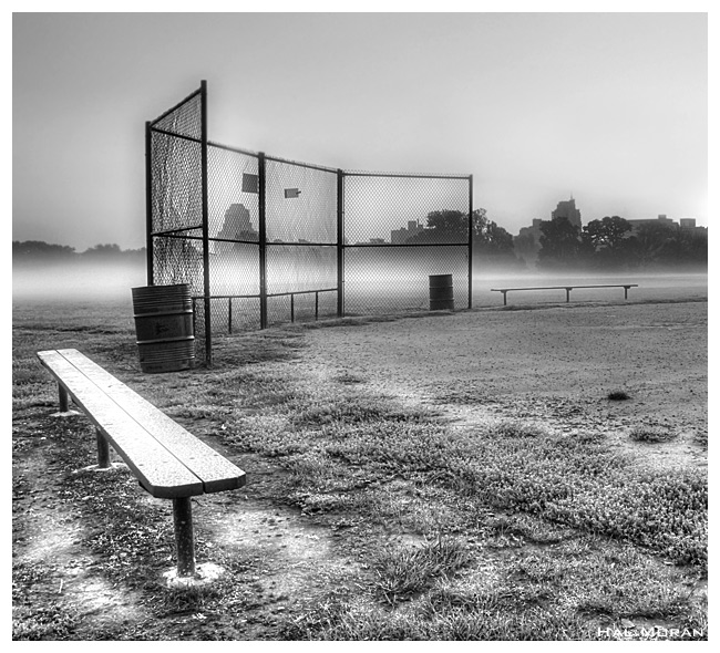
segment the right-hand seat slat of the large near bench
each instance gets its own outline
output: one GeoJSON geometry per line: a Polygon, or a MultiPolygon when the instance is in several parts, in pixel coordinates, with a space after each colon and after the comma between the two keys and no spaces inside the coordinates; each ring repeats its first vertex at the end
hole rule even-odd
{"type": "Polygon", "coordinates": [[[232,490],[245,485],[245,471],[224,458],[78,350],[59,350],[97,387],[112,395],[119,406],[143,425],[160,444],[185,465],[204,485],[206,493],[232,490]]]}

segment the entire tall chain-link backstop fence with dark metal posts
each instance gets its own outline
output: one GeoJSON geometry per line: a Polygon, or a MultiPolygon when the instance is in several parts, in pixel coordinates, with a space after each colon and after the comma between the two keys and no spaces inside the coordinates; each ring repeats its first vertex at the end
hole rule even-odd
{"type": "Polygon", "coordinates": [[[148,284],[187,283],[214,335],[472,301],[472,175],[346,172],[207,139],[205,82],[146,124],[148,284]]]}

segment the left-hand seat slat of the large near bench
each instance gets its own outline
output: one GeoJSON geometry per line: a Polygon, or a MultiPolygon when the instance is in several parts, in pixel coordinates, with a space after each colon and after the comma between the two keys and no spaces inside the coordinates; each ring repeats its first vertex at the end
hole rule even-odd
{"type": "Polygon", "coordinates": [[[40,362],[65,387],[113,448],[154,497],[177,498],[203,494],[202,481],[175,456],[100,392],[80,370],[55,351],[39,352],[40,362]]]}

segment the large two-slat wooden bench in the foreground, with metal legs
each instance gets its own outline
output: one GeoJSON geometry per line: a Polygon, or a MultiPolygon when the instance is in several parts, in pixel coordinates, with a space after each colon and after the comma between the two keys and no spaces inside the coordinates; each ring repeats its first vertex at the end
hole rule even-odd
{"type": "Polygon", "coordinates": [[[78,350],[38,352],[38,359],[58,381],[60,410],[68,412],[72,397],[95,425],[97,466],[111,466],[112,445],[143,488],[173,499],[177,576],[194,576],[191,497],[240,488],[245,471],[78,350]]]}

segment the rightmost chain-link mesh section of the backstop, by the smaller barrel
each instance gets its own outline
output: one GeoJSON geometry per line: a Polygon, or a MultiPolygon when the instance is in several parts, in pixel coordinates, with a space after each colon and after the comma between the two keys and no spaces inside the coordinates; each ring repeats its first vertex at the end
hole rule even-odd
{"type": "Polygon", "coordinates": [[[469,177],[346,173],[346,313],[422,310],[429,277],[467,305],[469,177]]]}

